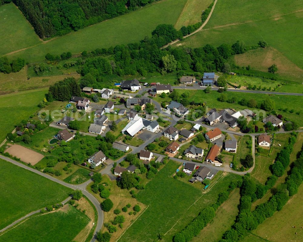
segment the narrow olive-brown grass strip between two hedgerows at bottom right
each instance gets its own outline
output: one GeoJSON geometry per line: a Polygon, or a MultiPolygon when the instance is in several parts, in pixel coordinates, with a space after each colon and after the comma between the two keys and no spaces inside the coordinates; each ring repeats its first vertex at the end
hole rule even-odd
{"type": "Polygon", "coordinates": [[[238,204],[240,203],[240,189],[235,189],[216,211],[214,219],[205,226],[192,242],[217,242],[222,238],[226,230],[234,224],[239,213],[238,204]]]}

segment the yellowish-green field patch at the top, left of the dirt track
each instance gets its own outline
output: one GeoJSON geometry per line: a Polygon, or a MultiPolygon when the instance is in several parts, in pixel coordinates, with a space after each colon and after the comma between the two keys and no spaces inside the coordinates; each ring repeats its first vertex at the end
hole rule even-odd
{"type": "Polygon", "coordinates": [[[202,11],[208,8],[212,0],[188,0],[175,24],[179,30],[182,26],[192,25],[201,22],[202,11]]]}

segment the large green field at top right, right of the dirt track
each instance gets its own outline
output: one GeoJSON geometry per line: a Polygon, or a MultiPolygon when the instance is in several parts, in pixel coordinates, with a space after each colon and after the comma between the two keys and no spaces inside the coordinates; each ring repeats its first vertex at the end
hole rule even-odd
{"type": "Polygon", "coordinates": [[[302,52],[298,42],[303,38],[303,32],[297,31],[302,26],[303,12],[295,12],[302,9],[303,3],[299,0],[272,0],[266,1],[266,4],[261,0],[218,1],[205,30],[177,45],[200,47],[211,44],[217,47],[222,43],[233,44],[236,40],[244,41],[246,45],[256,45],[258,41],[265,40],[303,68],[303,60],[298,55],[302,52]],[[275,17],[277,14],[282,16],[275,17]]]}

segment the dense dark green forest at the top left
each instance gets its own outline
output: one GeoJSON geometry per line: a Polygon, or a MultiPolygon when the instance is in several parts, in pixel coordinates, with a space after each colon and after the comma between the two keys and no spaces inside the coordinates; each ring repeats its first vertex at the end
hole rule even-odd
{"type": "MultiPolygon", "coordinates": [[[[158,0],[13,0],[40,38],[65,35],[158,0]]],[[[0,0],[0,4],[11,2],[0,0]]]]}

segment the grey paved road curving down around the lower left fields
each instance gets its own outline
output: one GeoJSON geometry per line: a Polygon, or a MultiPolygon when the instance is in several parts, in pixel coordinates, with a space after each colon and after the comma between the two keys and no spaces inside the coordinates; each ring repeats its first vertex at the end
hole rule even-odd
{"type": "MultiPolygon", "coordinates": [[[[67,184],[67,183],[65,183],[63,181],[58,180],[55,177],[49,176],[49,175],[47,175],[47,174],[45,174],[45,173],[43,173],[41,171],[37,171],[37,170],[35,170],[35,169],[31,168],[31,167],[28,167],[28,166],[26,166],[24,164],[21,164],[18,161],[14,161],[14,160],[12,160],[12,159],[10,159],[8,157],[0,155],[0,158],[3,159],[3,160],[5,160],[5,161],[11,162],[12,164],[15,164],[15,165],[17,165],[19,167],[22,167],[22,168],[24,168],[24,169],[26,169],[28,171],[32,171],[32,172],[34,172],[34,173],[36,173],[36,174],[38,174],[40,176],[43,176],[43,177],[45,177],[45,178],[47,178],[49,180],[57,182],[57,183],[61,184],[62,186],[71,188],[73,190],[77,190],[77,189],[81,190],[82,193],[94,204],[94,206],[96,207],[96,210],[98,212],[98,221],[97,221],[97,225],[96,225],[96,228],[95,228],[94,237],[92,238],[91,241],[94,242],[96,240],[95,236],[96,236],[97,232],[102,228],[102,224],[103,224],[103,211],[101,209],[101,206],[100,206],[100,203],[98,202],[98,200],[92,194],[90,194],[88,191],[85,190],[87,182],[79,184],[79,185],[67,184]]],[[[91,180],[89,180],[89,182],[91,182],[91,180]]]]}

